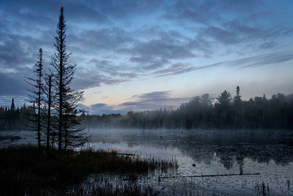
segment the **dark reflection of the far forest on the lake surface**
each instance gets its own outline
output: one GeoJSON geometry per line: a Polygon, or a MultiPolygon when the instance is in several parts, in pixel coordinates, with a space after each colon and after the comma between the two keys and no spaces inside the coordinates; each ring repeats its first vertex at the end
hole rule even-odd
{"type": "Polygon", "coordinates": [[[286,166],[293,161],[293,148],[287,146],[289,134],[285,132],[247,132],[247,131],[191,131],[178,130],[107,130],[96,135],[95,142],[126,142],[128,147],[155,147],[162,151],[178,150],[184,156],[190,156],[195,163],[211,165],[216,159],[227,170],[235,163],[243,174],[244,159],[257,163],[274,161],[286,166]],[[113,135],[113,132],[115,133],[113,135]],[[105,134],[105,135],[104,135],[105,134]],[[285,141],[279,144],[278,141],[285,141]],[[287,143],[286,143],[287,142],[287,143]]]}

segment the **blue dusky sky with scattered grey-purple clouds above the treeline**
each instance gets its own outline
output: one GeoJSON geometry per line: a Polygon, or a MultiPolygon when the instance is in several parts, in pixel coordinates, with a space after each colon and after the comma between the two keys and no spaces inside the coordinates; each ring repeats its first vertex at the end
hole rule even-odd
{"type": "Polygon", "coordinates": [[[67,20],[71,88],[89,114],[176,109],[224,90],[242,99],[293,93],[293,1],[0,1],[0,106],[21,107],[67,20]]]}

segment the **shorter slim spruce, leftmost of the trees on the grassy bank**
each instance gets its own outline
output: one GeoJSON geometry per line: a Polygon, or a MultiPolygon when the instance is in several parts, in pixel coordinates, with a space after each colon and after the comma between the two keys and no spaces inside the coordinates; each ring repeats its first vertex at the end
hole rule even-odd
{"type": "Polygon", "coordinates": [[[42,89],[43,89],[43,63],[45,60],[43,59],[43,50],[42,48],[39,49],[38,54],[38,62],[34,65],[37,69],[34,71],[37,74],[37,78],[29,78],[25,80],[28,84],[31,85],[31,89],[28,89],[30,94],[28,94],[30,103],[33,103],[33,109],[37,109],[38,113],[33,113],[34,118],[33,122],[36,124],[36,131],[38,135],[38,149],[41,148],[41,106],[42,106],[42,89]],[[37,106],[35,105],[37,104],[37,106]]]}

